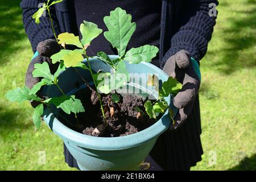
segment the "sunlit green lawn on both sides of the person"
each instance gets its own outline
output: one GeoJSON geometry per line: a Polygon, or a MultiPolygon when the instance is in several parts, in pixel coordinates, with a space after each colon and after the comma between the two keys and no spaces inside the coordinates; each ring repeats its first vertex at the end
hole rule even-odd
{"type": "MultiPolygon", "coordinates": [[[[255,170],[256,2],[223,0],[217,9],[214,34],[201,60],[204,155],[192,170],[255,170]],[[215,154],[216,163],[209,163],[215,154]]],[[[0,1],[0,11],[0,170],[71,170],[61,139],[46,125],[36,131],[30,104],[4,98],[24,85],[32,51],[19,1],[0,1]],[[46,164],[40,163],[42,151],[46,164]]]]}

